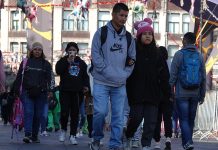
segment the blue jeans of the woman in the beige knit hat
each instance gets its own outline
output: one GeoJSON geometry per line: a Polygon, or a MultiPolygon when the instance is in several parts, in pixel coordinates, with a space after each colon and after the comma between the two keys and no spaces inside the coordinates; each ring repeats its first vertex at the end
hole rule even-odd
{"type": "Polygon", "coordinates": [[[23,91],[21,100],[24,107],[25,136],[38,136],[40,119],[43,116],[43,108],[47,103],[47,93],[43,92],[38,98],[33,100],[29,98],[26,91],[23,91]]]}

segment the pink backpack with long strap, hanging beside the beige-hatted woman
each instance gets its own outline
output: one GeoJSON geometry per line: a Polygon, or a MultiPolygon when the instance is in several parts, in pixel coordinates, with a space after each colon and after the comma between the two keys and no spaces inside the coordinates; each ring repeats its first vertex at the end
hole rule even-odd
{"type": "MultiPolygon", "coordinates": [[[[23,71],[22,71],[22,79],[20,85],[20,94],[22,93],[22,84],[23,84],[23,76],[24,70],[26,67],[27,58],[23,60],[23,71]]],[[[18,130],[22,129],[24,126],[24,111],[23,111],[23,104],[19,97],[17,97],[13,103],[12,109],[12,116],[11,116],[11,124],[12,124],[12,134],[11,139],[13,139],[14,131],[17,134],[18,130]]],[[[17,136],[18,139],[18,136],[17,136]]]]}

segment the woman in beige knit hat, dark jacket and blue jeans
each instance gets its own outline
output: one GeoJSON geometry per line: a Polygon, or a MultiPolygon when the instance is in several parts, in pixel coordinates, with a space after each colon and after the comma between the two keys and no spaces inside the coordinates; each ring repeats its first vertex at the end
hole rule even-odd
{"type": "Polygon", "coordinates": [[[45,107],[54,86],[52,85],[54,83],[52,68],[45,59],[43,46],[39,42],[32,44],[25,68],[23,63],[24,61],[20,64],[15,80],[15,93],[17,96],[20,95],[24,107],[25,137],[23,141],[39,143],[40,119],[44,113],[42,108],[45,107]],[[20,93],[22,78],[22,93],[20,93]]]}

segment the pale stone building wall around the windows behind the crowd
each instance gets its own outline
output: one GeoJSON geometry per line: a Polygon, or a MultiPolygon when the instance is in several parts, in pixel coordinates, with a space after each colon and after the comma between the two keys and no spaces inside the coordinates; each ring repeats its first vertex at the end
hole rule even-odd
{"type": "MultiPolygon", "coordinates": [[[[6,0],[6,4],[7,4],[6,0]]],[[[97,1],[94,0],[93,3],[97,1]]],[[[55,0],[55,4],[61,4],[62,0],[55,0]]],[[[171,34],[171,37],[167,34],[167,13],[179,13],[180,17],[182,14],[186,13],[172,4],[168,5],[169,10],[166,11],[166,2],[167,0],[158,0],[157,12],[159,13],[159,33],[155,34],[158,45],[166,46],[168,45],[177,45],[181,47],[181,37],[182,37],[182,19],[180,19],[180,32],[179,34],[171,34]],[[177,8],[177,9],[175,9],[177,8]],[[173,36],[173,39],[172,39],[173,36]]],[[[132,5],[133,6],[133,5],[132,5]]],[[[152,5],[151,5],[152,6],[152,5]]],[[[147,17],[148,13],[153,13],[150,4],[144,9],[144,17],[147,17]]],[[[66,42],[77,42],[77,43],[88,43],[87,53],[90,55],[90,48],[92,37],[94,36],[95,31],[98,28],[98,12],[99,11],[112,11],[112,5],[93,5],[89,9],[89,31],[63,31],[63,13],[64,9],[61,6],[55,6],[53,11],[53,60],[55,62],[63,55],[64,47],[63,43],[66,42]]],[[[65,8],[70,9],[70,8],[65,8]]],[[[18,47],[21,48],[21,42],[26,42],[26,32],[21,28],[23,22],[23,14],[19,10],[19,29],[18,31],[11,30],[11,11],[16,10],[16,8],[7,8],[1,9],[1,50],[3,52],[10,51],[10,42],[18,42],[18,47]]],[[[70,9],[72,10],[72,9],[70,9]]],[[[108,20],[111,19],[111,15],[108,20]]],[[[133,13],[132,10],[129,12],[129,18],[126,24],[128,31],[134,31],[133,26],[133,13]]],[[[190,24],[190,26],[192,26],[190,24]]],[[[191,30],[192,31],[192,30],[191,30]]],[[[134,34],[134,33],[133,33],[134,34]]],[[[22,55],[21,50],[18,50],[18,53],[22,55]]],[[[81,50],[81,53],[85,54],[84,50],[81,50]],[[82,52],[83,51],[83,52],[82,52]]]]}

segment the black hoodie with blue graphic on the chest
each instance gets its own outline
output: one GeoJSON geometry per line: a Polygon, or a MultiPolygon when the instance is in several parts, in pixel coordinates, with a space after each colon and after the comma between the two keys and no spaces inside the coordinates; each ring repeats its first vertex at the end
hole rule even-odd
{"type": "Polygon", "coordinates": [[[74,63],[67,61],[67,56],[61,58],[56,64],[56,73],[60,75],[60,91],[81,92],[83,87],[89,87],[87,65],[76,57],[74,63]]]}

